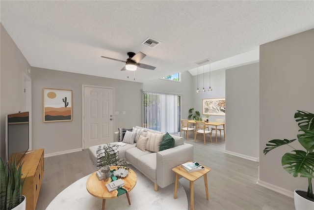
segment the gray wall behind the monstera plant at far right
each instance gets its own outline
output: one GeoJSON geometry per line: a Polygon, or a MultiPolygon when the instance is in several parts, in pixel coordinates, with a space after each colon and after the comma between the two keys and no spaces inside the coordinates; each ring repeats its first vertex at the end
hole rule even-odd
{"type": "MultiPolygon", "coordinates": [[[[307,189],[306,178],[294,178],[281,166],[290,147],[277,148],[266,156],[262,150],[272,139],[294,139],[296,110],[314,113],[314,29],[260,47],[260,180],[277,191],[307,189]]],[[[298,142],[294,142],[296,149],[298,142]]]]}

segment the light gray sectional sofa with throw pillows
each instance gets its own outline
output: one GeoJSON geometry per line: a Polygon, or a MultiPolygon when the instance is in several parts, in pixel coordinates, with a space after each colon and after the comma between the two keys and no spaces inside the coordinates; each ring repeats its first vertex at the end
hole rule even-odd
{"type": "MultiPolygon", "coordinates": [[[[145,129],[145,131],[152,133],[161,133],[139,126],[135,128],[145,129]]],[[[119,146],[119,158],[124,158],[148,179],[152,180],[155,183],[156,191],[158,190],[158,186],[164,188],[175,182],[175,173],[172,171],[172,168],[186,161],[193,160],[193,145],[184,143],[182,137],[171,136],[175,139],[175,147],[158,152],[142,151],[136,147],[136,143],[119,146]]],[[[115,132],[114,142],[110,143],[110,145],[116,145],[119,143],[118,141],[119,132],[115,132]]],[[[96,150],[98,146],[88,149],[95,167],[97,165],[96,150]]]]}

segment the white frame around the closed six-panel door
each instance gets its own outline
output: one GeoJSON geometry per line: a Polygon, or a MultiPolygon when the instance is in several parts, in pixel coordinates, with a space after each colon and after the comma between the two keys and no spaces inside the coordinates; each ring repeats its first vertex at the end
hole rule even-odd
{"type": "MultiPolygon", "coordinates": [[[[115,89],[114,87],[106,87],[106,86],[97,86],[97,85],[86,85],[82,84],[82,150],[85,150],[85,142],[84,142],[84,136],[85,136],[85,119],[84,119],[84,110],[85,110],[85,96],[84,96],[84,88],[103,88],[103,89],[111,89],[112,90],[112,116],[114,116],[115,113],[115,89]]],[[[115,119],[113,118],[113,130],[115,128],[115,119]]]]}

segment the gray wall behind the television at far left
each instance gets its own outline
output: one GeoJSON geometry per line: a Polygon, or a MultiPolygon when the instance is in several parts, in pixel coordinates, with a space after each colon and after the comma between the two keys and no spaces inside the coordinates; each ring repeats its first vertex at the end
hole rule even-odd
{"type": "Polygon", "coordinates": [[[5,158],[5,115],[25,110],[24,73],[29,63],[0,24],[0,156],[5,158]]]}

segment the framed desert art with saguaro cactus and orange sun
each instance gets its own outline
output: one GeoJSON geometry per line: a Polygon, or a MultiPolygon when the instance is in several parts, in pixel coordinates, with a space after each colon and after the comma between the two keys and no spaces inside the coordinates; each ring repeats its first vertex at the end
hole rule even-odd
{"type": "Polygon", "coordinates": [[[72,90],[43,89],[44,122],[72,121],[72,90]]]}

